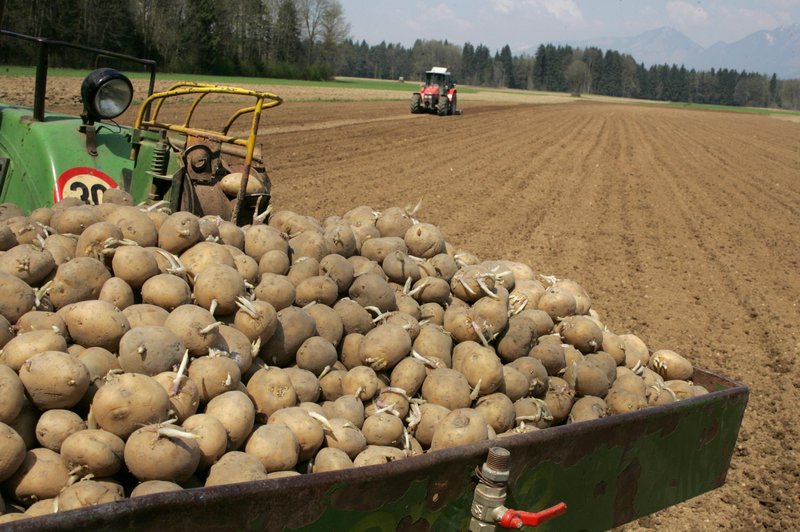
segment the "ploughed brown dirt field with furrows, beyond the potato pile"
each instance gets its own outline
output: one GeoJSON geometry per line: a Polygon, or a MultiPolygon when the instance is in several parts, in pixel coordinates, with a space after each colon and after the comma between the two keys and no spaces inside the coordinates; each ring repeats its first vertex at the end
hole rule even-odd
{"type": "Polygon", "coordinates": [[[439,118],[262,90],[287,95],[262,128],[276,209],[422,199],[458,247],[574,279],[611,330],[750,387],[725,485],[624,529],[797,528],[800,123],[488,91],[439,118]]]}

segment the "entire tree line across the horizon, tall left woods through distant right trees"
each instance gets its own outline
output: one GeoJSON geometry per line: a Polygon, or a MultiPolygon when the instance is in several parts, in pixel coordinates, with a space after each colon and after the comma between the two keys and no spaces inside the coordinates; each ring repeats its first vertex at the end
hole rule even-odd
{"type": "MultiPolygon", "coordinates": [[[[730,69],[646,67],[597,47],[541,45],[514,55],[418,39],[411,47],[349,37],[339,0],[0,0],[2,27],[155,59],[171,72],[331,79],[420,79],[447,66],[459,83],[652,100],[800,109],[800,80],[730,69]]],[[[32,47],[0,39],[0,61],[33,64],[32,47]]],[[[85,64],[56,54],[56,66],[85,64]]]]}

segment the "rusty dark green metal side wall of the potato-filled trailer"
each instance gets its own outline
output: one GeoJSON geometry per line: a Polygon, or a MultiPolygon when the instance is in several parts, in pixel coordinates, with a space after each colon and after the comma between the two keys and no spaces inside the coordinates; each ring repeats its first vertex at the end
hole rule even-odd
{"type": "Polygon", "coordinates": [[[748,389],[702,370],[693,380],[711,392],[383,465],[161,493],[14,525],[30,531],[499,530],[507,509],[531,512],[530,522],[552,509],[557,515],[542,516],[552,517],[539,525],[545,530],[607,530],[725,482],[748,389]],[[492,448],[508,451],[507,479],[499,482],[476,474],[492,448]],[[506,495],[487,508],[487,497],[476,490],[485,495],[497,486],[506,495]],[[503,511],[490,511],[496,508],[503,511]],[[498,519],[487,522],[487,515],[498,519]]]}

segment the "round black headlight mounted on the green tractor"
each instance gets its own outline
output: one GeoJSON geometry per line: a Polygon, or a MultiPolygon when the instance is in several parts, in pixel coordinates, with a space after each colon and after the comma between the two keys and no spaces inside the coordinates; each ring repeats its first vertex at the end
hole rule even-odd
{"type": "Polygon", "coordinates": [[[116,118],[128,108],[133,99],[133,85],[113,68],[95,70],[83,80],[81,101],[92,120],[116,118]]]}

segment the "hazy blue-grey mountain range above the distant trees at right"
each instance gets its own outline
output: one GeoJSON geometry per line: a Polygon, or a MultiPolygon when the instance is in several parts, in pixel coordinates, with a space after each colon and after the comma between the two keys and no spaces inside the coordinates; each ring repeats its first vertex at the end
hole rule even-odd
{"type": "MultiPolygon", "coordinates": [[[[553,43],[630,54],[646,66],[684,65],[688,69],[729,68],[738,71],[777,74],[781,79],[800,78],[800,25],[751,33],[732,43],[718,42],[704,48],[683,33],[668,27],[646,31],[634,37],[603,38],[553,43]]],[[[536,48],[523,53],[535,54],[536,48]]]]}

